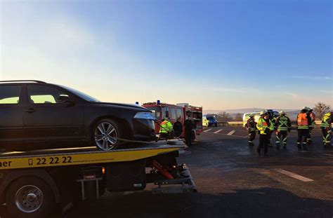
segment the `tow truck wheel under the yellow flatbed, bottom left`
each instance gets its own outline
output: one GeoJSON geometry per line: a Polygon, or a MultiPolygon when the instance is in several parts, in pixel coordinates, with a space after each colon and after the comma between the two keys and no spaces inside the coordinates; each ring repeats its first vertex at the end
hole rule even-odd
{"type": "Polygon", "coordinates": [[[11,217],[48,217],[54,212],[53,193],[42,179],[37,177],[20,177],[8,188],[6,205],[11,217]]]}

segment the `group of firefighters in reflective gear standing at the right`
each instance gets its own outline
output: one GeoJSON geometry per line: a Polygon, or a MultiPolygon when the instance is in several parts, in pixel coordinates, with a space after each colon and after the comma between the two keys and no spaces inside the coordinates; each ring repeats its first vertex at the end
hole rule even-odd
{"type": "MultiPolygon", "coordinates": [[[[320,124],[324,147],[332,147],[332,119],[333,111],[330,111],[324,115],[320,124]]],[[[297,115],[296,126],[298,132],[297,148],[307,150],[307,144],[312,143],[311,130],[315,127],[313,109],[303,107],[297,115]]],[[[250,146],[254,146],[254,139],[258,130],[259,145],[257,151],[259,156],[261,155],[261,149],[263,149],[264,156],[268,156],[268,146],[272,146],[271,136],[273,132],[275,132],[276,149],[280,149],[281,144],[283,149],[287,149],[287,135],[292,130],[292,122],[285,111],[280,111],[278,117],[274,117],[270,111],[261,111],[258,123],[254,119],[254,114],[250,114],[245,127],[249,131],[248,142],[250,146]]]]}

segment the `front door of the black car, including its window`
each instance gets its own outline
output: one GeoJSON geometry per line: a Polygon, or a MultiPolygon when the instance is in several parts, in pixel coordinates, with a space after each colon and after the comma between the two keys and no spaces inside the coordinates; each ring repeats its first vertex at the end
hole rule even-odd
{"type": "Polygon", "coordinates": [[[27,142],[74,142],[84,139],[84,111],[79,100],[64,90],[44,84],[27,85],[24,107],[27,142]],[[60,102],[60,96],[73,102],[60,102]]]}

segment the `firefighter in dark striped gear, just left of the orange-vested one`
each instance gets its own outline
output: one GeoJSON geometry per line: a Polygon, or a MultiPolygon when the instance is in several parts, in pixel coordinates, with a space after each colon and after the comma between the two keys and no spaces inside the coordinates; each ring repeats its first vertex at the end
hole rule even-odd
{"type": "Polygon", "coordinates": [[[276,149],[280,149],[280,144],[282,141],[283,149],[287,149],[287,133],[290,132],[292,128],[292,122],[286,116],[285,111],[280,111],[278,118],[275,121],[275,131],[276,132],[276,149]]]}

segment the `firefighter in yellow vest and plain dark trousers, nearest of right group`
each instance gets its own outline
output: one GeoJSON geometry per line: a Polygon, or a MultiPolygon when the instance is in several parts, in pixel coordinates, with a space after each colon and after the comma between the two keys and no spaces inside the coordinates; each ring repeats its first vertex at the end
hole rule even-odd
{"type": "Polygon", "coordinates": [[[263,154],[268,156],[268,142],[270,128],[274,128],[272,121],[269,119],[269,115],[266,111],[260,112],[260,118],[256,124],[256,128],[260,131],[259,135],[259,146],[256,151],[258,151],[259,156],[261,155],[261,148],[263,147],[263,154]]]}

